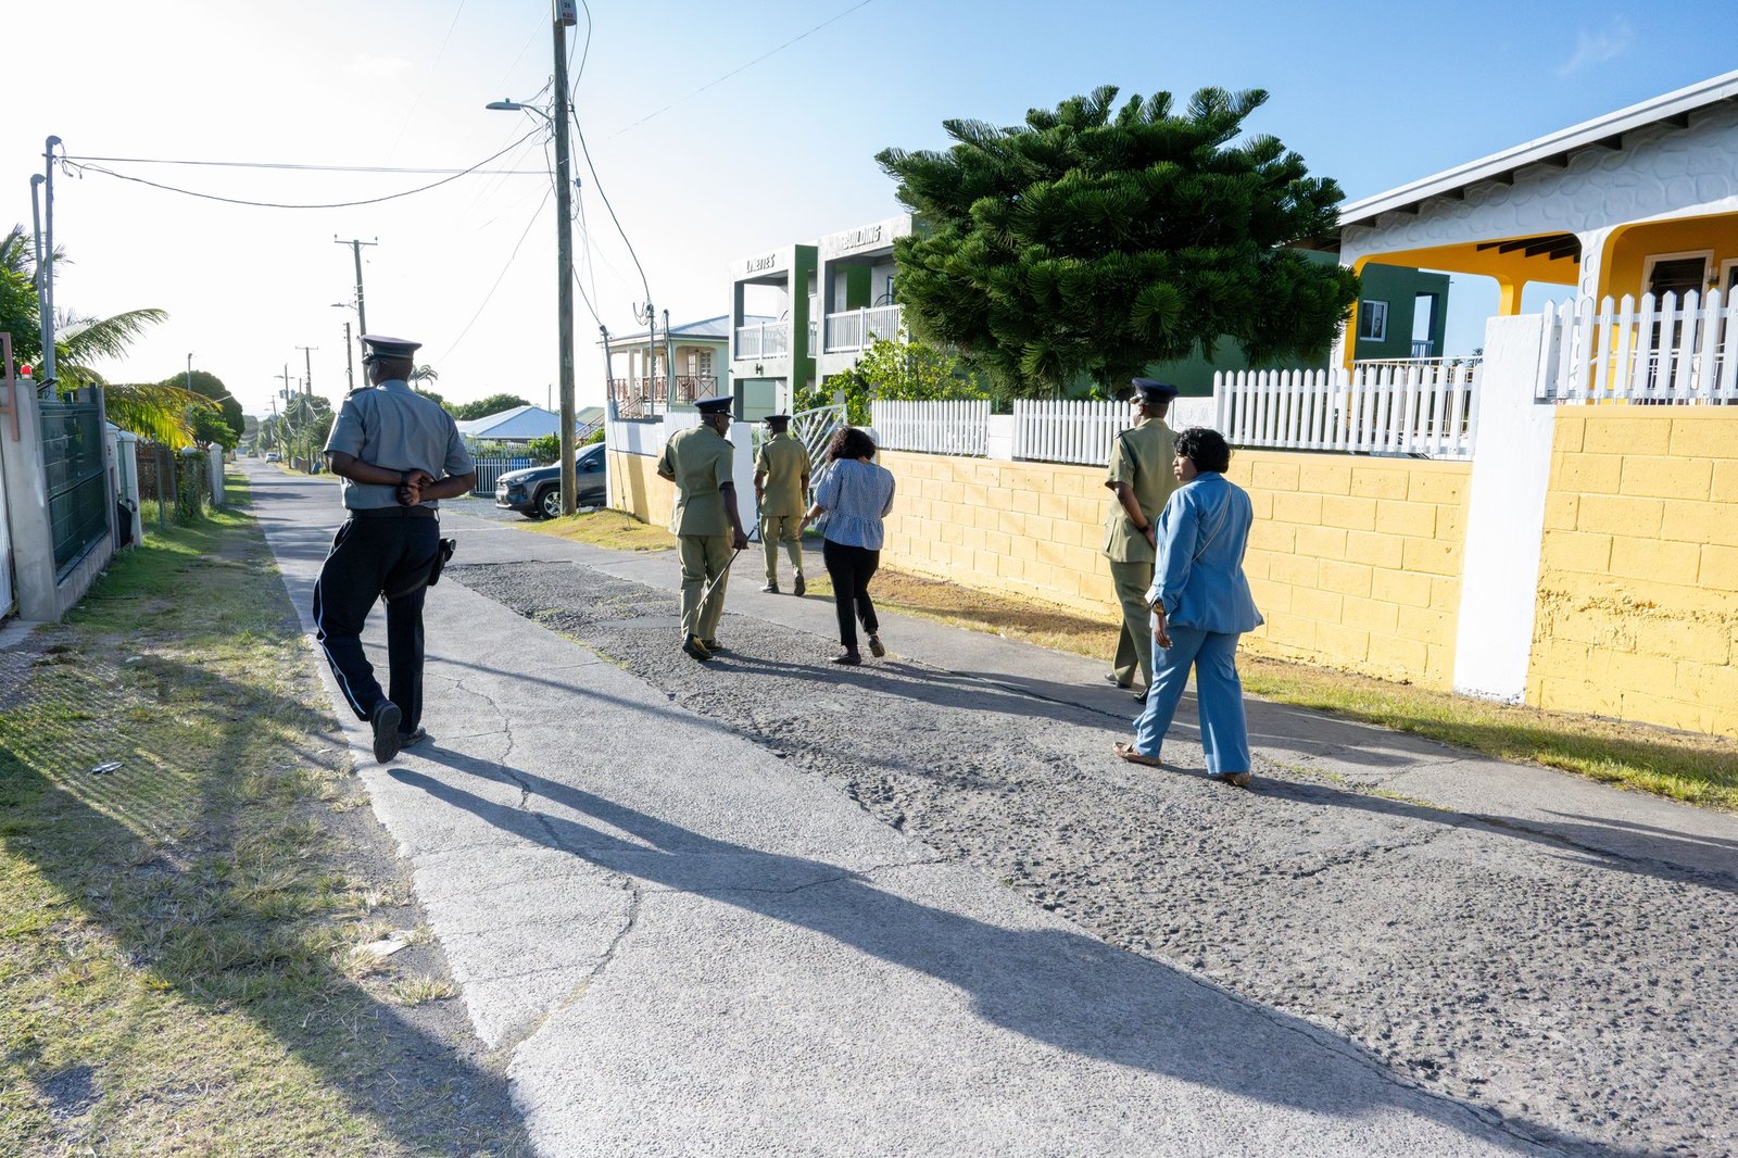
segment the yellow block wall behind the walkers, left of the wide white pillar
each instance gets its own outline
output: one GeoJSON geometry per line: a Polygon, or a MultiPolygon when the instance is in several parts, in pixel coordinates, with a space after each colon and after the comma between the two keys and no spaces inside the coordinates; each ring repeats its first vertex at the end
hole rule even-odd
{"type": "MultiPolygon", "coordinates": [[[[899,480],[888,565],[1116,621],[1104,468],[881,457],[899,480]]],[[[1251,652],[1453,683],[1465,463],[1241,450],[1229,476],[1255,504],[1251,652]]]]}

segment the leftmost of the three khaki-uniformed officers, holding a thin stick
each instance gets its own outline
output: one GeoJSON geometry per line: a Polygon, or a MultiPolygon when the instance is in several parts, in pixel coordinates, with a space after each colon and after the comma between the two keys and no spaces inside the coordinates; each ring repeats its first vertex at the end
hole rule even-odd
{"type": "Polygon", "coordinates": [[[732,482],[735,449],[725,438],[730,398],[700,398],[693,409],[700,412],[700,424],[664,443],[657,473],[676,483],[669,529],[681,560],[681,650],[695,659],[711,659],[720,650],[716,633],[725,614],[732,548],[740,551],[749,537],[737,515],[737,487],[732,482]],[[713,584],[711,593],[702,603],[700,593],[707,584],[713,584]]]}

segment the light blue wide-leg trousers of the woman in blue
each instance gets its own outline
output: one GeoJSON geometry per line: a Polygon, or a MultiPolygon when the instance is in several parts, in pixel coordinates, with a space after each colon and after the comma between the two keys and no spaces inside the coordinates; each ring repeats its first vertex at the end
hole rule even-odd
{"type": "Polygon", "coordinates": [[[1201,709],[1201,749],[1210,775],[1250,770],[1250,729],[1243,718],[1243,680],[1237,678],[1239,631],[1201,631],[1171,624],[1171,645],[1152,642],[1152,690],[1135,718],[1135,751],[1158,756],[1182,702],[1189,669],[1196,673],[1201,709]]]}

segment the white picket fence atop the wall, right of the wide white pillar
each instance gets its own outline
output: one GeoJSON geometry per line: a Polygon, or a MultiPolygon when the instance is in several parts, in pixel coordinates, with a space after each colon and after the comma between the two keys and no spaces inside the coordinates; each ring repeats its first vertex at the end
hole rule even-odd
{"type": "Polygon", "coordinates": [[[1738,301],[1719,290],[1545,308],[1540,402],[1738,403],[1738,301]]]}

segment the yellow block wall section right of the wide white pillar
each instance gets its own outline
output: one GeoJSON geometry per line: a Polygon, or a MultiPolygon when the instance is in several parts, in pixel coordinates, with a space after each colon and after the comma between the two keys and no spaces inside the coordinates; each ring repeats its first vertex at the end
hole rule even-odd
{"type": "Polygon", "coordinates": [[[1564,407],[1528,702],[1738,735],[1738,410],[1564,407]]]}

